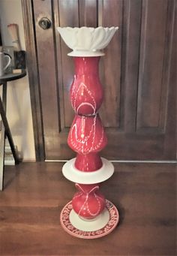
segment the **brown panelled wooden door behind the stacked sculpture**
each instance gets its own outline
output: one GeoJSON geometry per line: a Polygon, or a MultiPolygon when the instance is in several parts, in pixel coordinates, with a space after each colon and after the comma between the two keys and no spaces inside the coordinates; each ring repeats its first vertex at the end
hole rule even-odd
{"type": "Polygon", "coordinates": [[[57,26],[119,26],[101,58],[109,159],[175,159],[175,0],[33,0],[46,159],[68,159],[74,63],[57,26]],[[38,25],[42,17],[50,29],[38,25]]]}

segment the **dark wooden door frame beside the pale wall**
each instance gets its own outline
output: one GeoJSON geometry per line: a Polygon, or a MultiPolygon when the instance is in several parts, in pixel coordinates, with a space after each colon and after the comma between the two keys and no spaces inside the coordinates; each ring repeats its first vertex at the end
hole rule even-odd
{"type": "Polygon", "coordinates": [[[26,40],[26,62],[31,98],[31,112],[34,130],[34,147],[36,161],[45,160],[43,136],[43,115],[40,102],[40,80],[37,65],[37,45],[35,40],[33,4],[31,0],[21,0],[23,9],[23,26],[26,40]]]}

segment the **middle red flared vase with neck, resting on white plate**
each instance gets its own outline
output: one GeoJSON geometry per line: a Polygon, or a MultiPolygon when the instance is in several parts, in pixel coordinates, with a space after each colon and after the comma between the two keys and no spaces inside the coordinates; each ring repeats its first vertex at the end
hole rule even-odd
{"type": "Polygon", "coordinates": [[[100,169],[102,162],[98,152],[107,145],[107,135],[100,116],[76,115],[68,135],[68,145],[77,152],[75,166],[78,170],[100,169]]]}

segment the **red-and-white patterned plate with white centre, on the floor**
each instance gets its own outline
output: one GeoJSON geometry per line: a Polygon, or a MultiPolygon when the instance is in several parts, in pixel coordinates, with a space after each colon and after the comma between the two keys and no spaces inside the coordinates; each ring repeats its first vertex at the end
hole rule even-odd
{"type": "Polygon", "coordinates": [[[85,221],[73,210],[72,201],[62,209],[60,222],[66,232],[71,236],[83,239],[95,239],[106,236],[118,224],[119,215],[115,205],[106,200],[106,209],[94,220],[85,221]]]}

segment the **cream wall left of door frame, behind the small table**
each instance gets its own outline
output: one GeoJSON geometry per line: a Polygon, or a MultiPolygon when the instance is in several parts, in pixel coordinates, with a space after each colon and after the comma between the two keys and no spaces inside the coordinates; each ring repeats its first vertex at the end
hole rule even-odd
{"type": "MultiPolygon", "coordinates": [[[[7,24],[17,23],[21,46],[23,50],[26,50],[21,1],[0,0],[0,19],[3,45],[13,45],[10,34],[7,31],[7,24]]],[[[13,142],[17,145],[23,160],[34,161],[34,134],[28,76],[7,83],[7,119],[13,136],[13,142]]]]}

